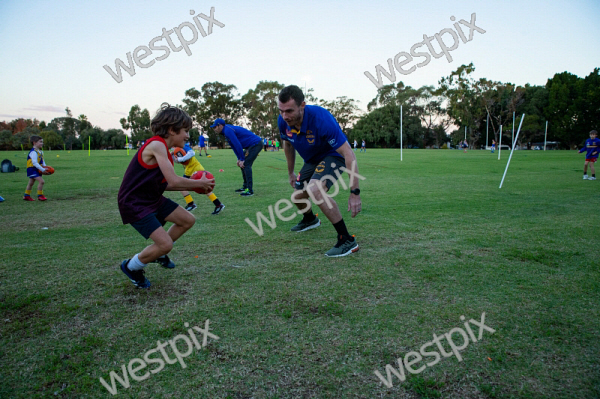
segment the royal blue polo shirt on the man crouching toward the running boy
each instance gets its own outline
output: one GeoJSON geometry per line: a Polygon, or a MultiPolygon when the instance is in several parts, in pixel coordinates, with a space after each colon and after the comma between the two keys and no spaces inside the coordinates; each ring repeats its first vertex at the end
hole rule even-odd
{"type": "Polygon", "coordinates": [[[298,132],[279,115],[281,139],[289,141],[306,163],[319,163],[326,156],[343,156],[336,150],[348,140],[333,115],[323,107],[306,105],[302,127],[298,132]]]}

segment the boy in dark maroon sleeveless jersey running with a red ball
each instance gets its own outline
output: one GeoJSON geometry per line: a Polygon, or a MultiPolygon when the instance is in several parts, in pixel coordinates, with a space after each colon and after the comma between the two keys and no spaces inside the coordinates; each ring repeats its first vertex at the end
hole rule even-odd
{"type": "Polygon", "coordinates": [[[138,288],[150,287],[144,267],[150,262],[172,269],[175,264],[167,254],[173,242],[192,228],[196,219],[175,202],[163,196],[165,190],[211,190],[214,180],[184,179],[175,174],[170,147],[183,147],[189,140],[192,119],[185,111],[163,104],[152,119],[154,136],[146,140],[131,160],[119,189],[119,212],[123,224],[131,224],[145,239],[154,242],[131,259],[121,263],[121,271],[138,288]],[[173,225],[168,231],[162,226],[173,225]]]}

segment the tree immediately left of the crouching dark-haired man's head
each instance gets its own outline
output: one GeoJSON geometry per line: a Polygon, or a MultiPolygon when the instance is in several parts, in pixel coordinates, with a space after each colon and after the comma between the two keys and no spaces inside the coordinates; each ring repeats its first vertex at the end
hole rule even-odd
{"type": "Polygon", "coordinates": [[[254,90],[248,90],[242,97],[250,130],[255,134],[261,137],[279,135],[277,97],[284,87],[278,82],[260,81],[254,90]]]}

